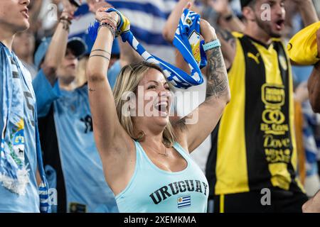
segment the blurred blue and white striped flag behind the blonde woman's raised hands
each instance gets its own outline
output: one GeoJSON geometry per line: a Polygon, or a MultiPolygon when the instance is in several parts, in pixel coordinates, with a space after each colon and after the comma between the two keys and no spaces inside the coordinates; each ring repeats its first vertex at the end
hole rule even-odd
{"type": "MultiPolygon", "coordinates": [[[[129,18],[130,30],[146,50],[166,62],[175,62],[175,50],[164,40],[162,30],[178,0],[112,0],[107,2],[129,18]]],[[[83,4],[75,16],[70,26],[70,36],[78,36],[86,40],[85,33],[90,23],[95,20],[95,15],[90,13],[87,4],[83,4]]],[[[92,47],[90,41],[86,40],[89,51],[92,47]]]]}

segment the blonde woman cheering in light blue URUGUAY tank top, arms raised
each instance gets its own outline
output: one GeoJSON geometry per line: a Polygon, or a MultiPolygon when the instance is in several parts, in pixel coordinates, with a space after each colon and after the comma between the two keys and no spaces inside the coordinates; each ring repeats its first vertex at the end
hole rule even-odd
{"type": "MultiPolygon", "coordinates": [[[[206,101],[171,125],[170,87],[156,65],[124,67],[112,95],[105,75],[119,18],[105,9],[96,18],[102,26],[87,65],[90,107],[105,179],[119,211],[206,212],[208,182],[189,154],[213,131],[230,100],[220,48],[206,51],[206,101]],[[193,116],[198,121],[188,124],[193,116]]],[[[201,35],[206,43],[217,39],[206,21],[201,35]]]]}

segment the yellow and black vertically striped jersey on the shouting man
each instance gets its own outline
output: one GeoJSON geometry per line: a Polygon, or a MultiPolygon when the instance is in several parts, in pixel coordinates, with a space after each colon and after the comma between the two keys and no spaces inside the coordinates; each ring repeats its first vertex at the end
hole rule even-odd
{"type": "Polygon", "coordinates": [[[210,195],[272,187],[301,191],[295,175],[292,72],[284,45],[233,35],[231,101],[212,133],[206,166],[210,195]]]}

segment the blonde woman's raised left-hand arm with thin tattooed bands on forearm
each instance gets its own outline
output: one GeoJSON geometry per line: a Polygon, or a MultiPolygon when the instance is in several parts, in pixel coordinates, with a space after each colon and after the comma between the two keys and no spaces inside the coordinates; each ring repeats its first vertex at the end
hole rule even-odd
{"type": "Polygon", "coordinates": [[[95,144],[102,160],[105,179],[114,194],[118,194],[132,177],[135,153],[132,152],[132,138],[119,122],[112,89],[105,76],[118,20],[117,13],[105,13],[106,9],[97,10],[97,21],[105,21],[112,26],[100,26],[87,62],[86,74],[95,144]]]}

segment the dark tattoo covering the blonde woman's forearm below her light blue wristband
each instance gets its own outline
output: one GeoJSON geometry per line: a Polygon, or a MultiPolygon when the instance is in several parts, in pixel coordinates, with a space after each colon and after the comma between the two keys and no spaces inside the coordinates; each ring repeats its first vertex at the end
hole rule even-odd
{"type": "Polygon", "coordinates": [[[225,62],[220,48],[213,48],[206,52],[208,57],[207,65],[207,91],[206,101],[211,96],[219,98],[228,94],[228,73],[225,69],[225,62]]]}

